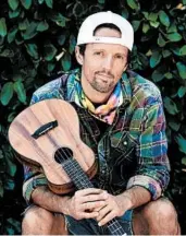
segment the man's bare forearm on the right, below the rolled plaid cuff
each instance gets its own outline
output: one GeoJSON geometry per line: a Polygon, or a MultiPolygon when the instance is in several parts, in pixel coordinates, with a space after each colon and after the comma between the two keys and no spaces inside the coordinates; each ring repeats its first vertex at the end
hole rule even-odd
{"type": "MultiPolygon", "coordinates": [[[[127,210],[140,206],[151,200],[151,193],[140,186],[134,186],[117,197],[121,199],[121,202],[125,199],[123,202],[127,204],[127,210]]],[[[124,205],[124,209],[126,209],[126,205],[124,205]]]]}

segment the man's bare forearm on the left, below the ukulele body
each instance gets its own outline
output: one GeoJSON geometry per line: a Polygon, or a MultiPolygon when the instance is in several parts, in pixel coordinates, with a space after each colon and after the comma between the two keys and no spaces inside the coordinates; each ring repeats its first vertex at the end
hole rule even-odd
{"type": "Polygon", "coordinates": [[[48,187],[37,187],[32,193],[32,200],[35,204],[51,212],[67,214],[66,201],[70,197],[58,196],[50,191],[48,187]]]}

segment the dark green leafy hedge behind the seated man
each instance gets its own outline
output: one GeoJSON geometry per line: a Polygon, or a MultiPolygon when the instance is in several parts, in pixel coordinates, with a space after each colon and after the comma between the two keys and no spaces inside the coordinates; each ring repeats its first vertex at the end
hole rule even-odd
{"type": "Polygon", "coordinates": [[[131,67],[161,90],[172,173],[166,194],[186,234],[186,0],[1,0],[0,8],[0,234],[21,234],[23,169],[8,141],[13,118],[32,93],[76,67],[82,21],[101,10],[135,30],[131,67]]]}

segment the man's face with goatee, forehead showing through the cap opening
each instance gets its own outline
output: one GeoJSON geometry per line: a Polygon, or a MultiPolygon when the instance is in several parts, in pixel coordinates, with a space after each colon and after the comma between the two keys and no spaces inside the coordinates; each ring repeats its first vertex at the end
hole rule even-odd
{"type": "MultiPolygon", "coordinates": [[[[96,36],[121,37],[120,32],[102,27],[96,36]]],[[[111,93],[127,67],[128,49],[114,44],[87,44],[82,58],[82,80],[94,90],[111,93]]]]}

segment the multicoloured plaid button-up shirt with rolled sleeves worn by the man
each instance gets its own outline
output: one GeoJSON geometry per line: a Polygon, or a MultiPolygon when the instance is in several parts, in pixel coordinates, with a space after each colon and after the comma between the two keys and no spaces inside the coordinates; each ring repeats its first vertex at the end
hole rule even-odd
{"type": "MultiPolygon", "coordinates": [[[[95,177],[98,188],[119,194],[133,186],[141,186],[156,200],[170,180],[160,91],[135,72],[125,72],[119,82],[124,102],[116,109],[114,122],[100,133],[95,118],[76,104],[72,79],[79,73],[79,70],[71,71],[41,86],[34,93],[32,104],[49,98],[72,103],[80,121],[80,138],[92,149],[99,164],[95,177]]],[[[45,175],[35,168],[25,165],[24,173],[23,196],[29,202],[33,190],[48,182],[45,175]]]]}

